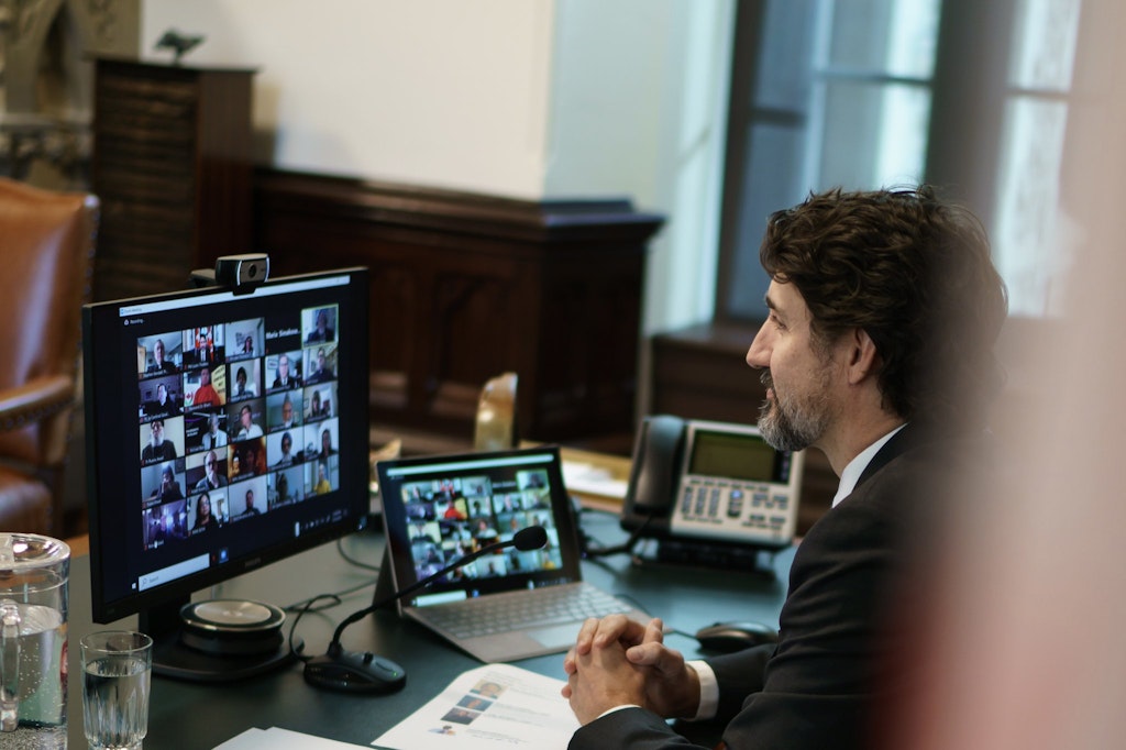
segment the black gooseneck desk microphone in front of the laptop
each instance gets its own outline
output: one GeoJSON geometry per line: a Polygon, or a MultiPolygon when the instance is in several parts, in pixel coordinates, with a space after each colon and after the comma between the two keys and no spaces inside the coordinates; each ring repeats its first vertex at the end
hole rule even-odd
{"type": "Polygon", "coordinates": [[[328,653],[323,657],[314,657],[305,662],[305,681],[314,687],[347,693],[390,693],[397,690],[406,682],[406,670],[390,659],[377,657],[370,652],[345,651],[343,645],[340,643],[340,636],[343,634],[346,627],[364,619],[376,609],[386,607],[397,599],[402,599],[421,588],[430,586],[455,568],[466,565],[477,557],[483,557],[506,547],[516,547],[520,552],[530,552],[531,550],[540,548],[545,544],[547,544],[547,532],[544,530],[543,526],[521,528],[508,542],[497,542],[476,552],[463,555],[437,573],[427,575],[421,581],[415,581],[402,591],[396,591],[369,607],[352,613],[337,626],[337,631],[332,634],[332,641],[329,642],[328,653]]]}

